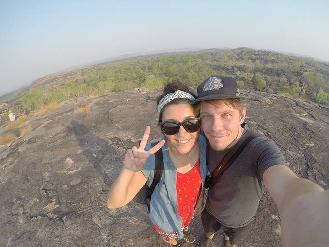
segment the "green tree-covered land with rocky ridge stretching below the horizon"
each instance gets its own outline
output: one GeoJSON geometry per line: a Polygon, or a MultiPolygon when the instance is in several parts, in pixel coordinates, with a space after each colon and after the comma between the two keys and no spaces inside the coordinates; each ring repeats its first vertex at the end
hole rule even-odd
{"type": "Polygon", "coordinates": [[[16,98],[15,111],[34,110],[51,101],[98,96],[135,87],[160,88],[174,80],[192,86],[216,74],[236,78],[239,87],[244,89],[329,103],[328,64],[238,48],[143,56],[44,77],[38,80],[41,86],[16,98]]]}

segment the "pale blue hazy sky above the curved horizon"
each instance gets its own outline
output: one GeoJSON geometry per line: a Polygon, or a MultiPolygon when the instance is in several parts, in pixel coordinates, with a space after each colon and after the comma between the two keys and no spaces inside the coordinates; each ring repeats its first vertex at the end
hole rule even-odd
{"type": "Polygon", "coordinates": [[[0,95],[87,62],[187,47],[329,61],[329,1],[0,0],[0,95]]]}

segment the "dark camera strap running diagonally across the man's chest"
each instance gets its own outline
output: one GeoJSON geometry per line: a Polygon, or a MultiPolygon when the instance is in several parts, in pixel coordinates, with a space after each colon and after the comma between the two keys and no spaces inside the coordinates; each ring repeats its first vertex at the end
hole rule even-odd
{"type": "Polygon", "coordinates": [[[225,155],[221,163],[217,166],[216,170],[213,172],[213,177],[211,178],[211,186],[213,187],[219,179],[223,176],[224,172],[233,164],[233,162],[241,154],[244,147],[254,138],[261,137],[260,134],[251,132],[247,136],[241,137],[238,142],[232,147],[232,149],[225,155]],[[216,173],[216,174],[214,174],[216,173]]]}

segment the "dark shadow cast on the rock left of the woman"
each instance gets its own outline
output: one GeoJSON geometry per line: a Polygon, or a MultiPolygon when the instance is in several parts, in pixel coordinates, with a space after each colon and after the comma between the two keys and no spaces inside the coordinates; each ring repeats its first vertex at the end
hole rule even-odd
{"type": "Polygon", "coordinates": [[[94,136],[84,124],[80,124],[76,120],[71,121],[69,130],[75,134],[82,153],[87,157],[90,164],[100,174],[104,183],[110,186],[112,184],[111,179],[109,179],[111,174],[107,174],[105,170],[108,170],[106,166],[113,162],[113,154],[116,153],[116,149],[108,145],[105,140],[94,136]]]}

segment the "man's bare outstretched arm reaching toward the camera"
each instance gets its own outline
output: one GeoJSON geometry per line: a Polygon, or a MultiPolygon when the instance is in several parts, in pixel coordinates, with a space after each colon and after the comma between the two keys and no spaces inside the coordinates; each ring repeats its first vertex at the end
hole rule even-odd
{"type": "Polygon", "coordinates": [[[328,247],[329,190],[284,165],[269,167],[263,180],[279,209],[283,247],[328,247]]]}

